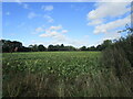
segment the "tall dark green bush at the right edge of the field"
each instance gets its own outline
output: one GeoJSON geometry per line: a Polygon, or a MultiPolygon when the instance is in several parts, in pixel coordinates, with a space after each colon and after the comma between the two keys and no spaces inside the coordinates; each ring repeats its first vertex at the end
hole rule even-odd
{"type": "Polygon", "coordinates": [[[127,36],[119,38],[103,52],[103,63],[105,67],[113,69],[121,80],[127,77],[129,81],[132,82],[133,31],[132,29],[127,30],[130,31],[127,36]]]}

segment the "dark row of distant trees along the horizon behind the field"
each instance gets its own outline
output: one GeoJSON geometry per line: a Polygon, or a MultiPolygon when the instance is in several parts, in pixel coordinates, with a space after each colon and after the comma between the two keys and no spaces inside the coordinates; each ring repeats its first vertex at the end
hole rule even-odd
{"type": "Polygon", "coordinates": [[[105,40],[102,44],[98,46],[82,46],[80,48],[76,48],[74,46],[64,46],[61,45],[49,45],[45,47],[44,45],[29,45],[28,47],[23,46],[21,42],[18,41],[9,41],[9,40],[0,40],[0,44],[2,46],[3,53],[12,53],[12,52],[45,52],[45,51],[103,51],[110,45],[112,45],[111,40],[105,40]]]}

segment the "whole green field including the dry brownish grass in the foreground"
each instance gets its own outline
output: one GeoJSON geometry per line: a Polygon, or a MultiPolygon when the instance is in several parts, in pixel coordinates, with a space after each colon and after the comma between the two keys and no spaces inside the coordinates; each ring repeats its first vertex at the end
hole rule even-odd
{"type": "Polygon", "coordinates": [[[125,85],[103,68],[101,52],[4,53],[4,97],[131,96],[125,85]]]}

